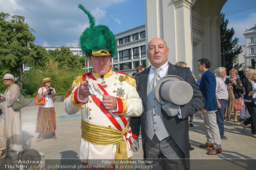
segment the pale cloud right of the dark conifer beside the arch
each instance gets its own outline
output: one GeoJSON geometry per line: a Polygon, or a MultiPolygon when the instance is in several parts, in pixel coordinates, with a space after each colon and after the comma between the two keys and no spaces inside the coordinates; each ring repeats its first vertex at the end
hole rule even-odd
{"type": "Polygon", "coordinates": [[[248,18],[244,20],[233,20],[230,21],[227,25],[228,28],[234,28],[235,35],[233,38],[238,38],[238,42],[240,42],[242,45],[245,45],[245,39],[244,39],[244,31],[246,31],[246,27],[252,28],[255,26],[255,20],[256,20],[256,12],[249,15],[248,18]]]}

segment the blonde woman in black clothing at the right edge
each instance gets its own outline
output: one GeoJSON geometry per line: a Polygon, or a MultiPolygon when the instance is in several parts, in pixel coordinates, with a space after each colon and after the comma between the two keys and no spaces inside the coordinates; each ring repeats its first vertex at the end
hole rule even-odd
{"type": "Polygon", "coordinates": [[[245,83],[244,103],[251,117],[241,122],[241,126],[246,131],[246,125],[252,126],[252,137],[256,138],[256,104],[253,98],[256,98],[256,69],[250,69],[246,73],[248,79],[245,83]]]}

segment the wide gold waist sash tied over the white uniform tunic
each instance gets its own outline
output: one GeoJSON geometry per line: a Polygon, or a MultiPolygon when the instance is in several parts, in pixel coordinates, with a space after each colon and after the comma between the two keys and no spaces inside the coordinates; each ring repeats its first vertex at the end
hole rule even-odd
{"type": "Polygon", "coordinates": [[[123,131],[118,131],[115,128],[94,125],[82,120],[81,129],[83,140],[98,145],[116,144],[115,159],[128,159],[127,142],[124,139],[124,134],[128,131],[128,125],[123,131]]]}

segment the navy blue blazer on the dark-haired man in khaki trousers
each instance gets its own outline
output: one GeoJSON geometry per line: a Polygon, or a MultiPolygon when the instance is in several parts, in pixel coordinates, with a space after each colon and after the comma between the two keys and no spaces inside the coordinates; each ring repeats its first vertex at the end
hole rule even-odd
{"type": "Polygon", "coordinates": [[[216,77],[210,69],[203,73],[199,88],[206,98],[206,104],[203,109],[206,109],[207,111],[217,110],[216,77]]]}

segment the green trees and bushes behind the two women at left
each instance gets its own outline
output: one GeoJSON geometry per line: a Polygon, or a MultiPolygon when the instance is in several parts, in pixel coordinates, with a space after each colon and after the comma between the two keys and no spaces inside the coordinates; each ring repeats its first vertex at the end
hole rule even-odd
{"type": "MultiPolygon", "coordinates": [[[[71,87],[73,79],[84,74],[82,69],[85,56],[73,55],[68,47],[60,50],[45,50],[34,45],[34,30],[25,23],[20,15],[10,15],[0,12],[0,78],[10,73],[18,78],[20,91],[26,97],[37,96],[37,90],[42,87],[42,79],[50,77],[56,95],[63,95],[71,87]],[[28,73],[23,72],[23,64],[31,67],[28,73]]],[[[0,92],[7,88],[0,81],[0,92]]]]}

